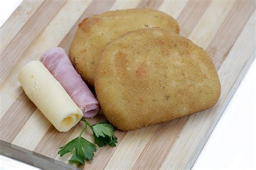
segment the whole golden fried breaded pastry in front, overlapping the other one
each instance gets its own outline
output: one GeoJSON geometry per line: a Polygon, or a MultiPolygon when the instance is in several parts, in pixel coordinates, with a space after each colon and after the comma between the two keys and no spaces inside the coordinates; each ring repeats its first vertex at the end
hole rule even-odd
{"type": "Polygon", "coordinates": [[[205,110],[220,96],[204,49],[160,28],[126,33],[107,45],[95,89],[106,118],[124,131],[205,110]]]}

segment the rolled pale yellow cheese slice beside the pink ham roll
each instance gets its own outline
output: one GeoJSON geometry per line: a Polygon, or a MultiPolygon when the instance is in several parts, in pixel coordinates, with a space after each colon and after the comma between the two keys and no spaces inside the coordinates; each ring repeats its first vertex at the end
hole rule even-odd
{"type": "Polygon", "coordinates": [[[41,61],[31,61],[18,73],[26,95],[60,132],[75,126],[83,112],[41,61]]]}

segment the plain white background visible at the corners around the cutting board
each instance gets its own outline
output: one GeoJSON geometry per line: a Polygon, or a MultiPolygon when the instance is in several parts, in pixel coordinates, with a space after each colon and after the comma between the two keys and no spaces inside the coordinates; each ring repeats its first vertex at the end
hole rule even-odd
{"type": "MultiPolygon", "coordinates": [[[[21,2],[0,0],[0,26],[21,2]]],[[[194,170],[256,169],[255,65],[254,60],[200,153],[194,170]]],[[[37,168],[0,155],[0,169],[37,168]]]]}

